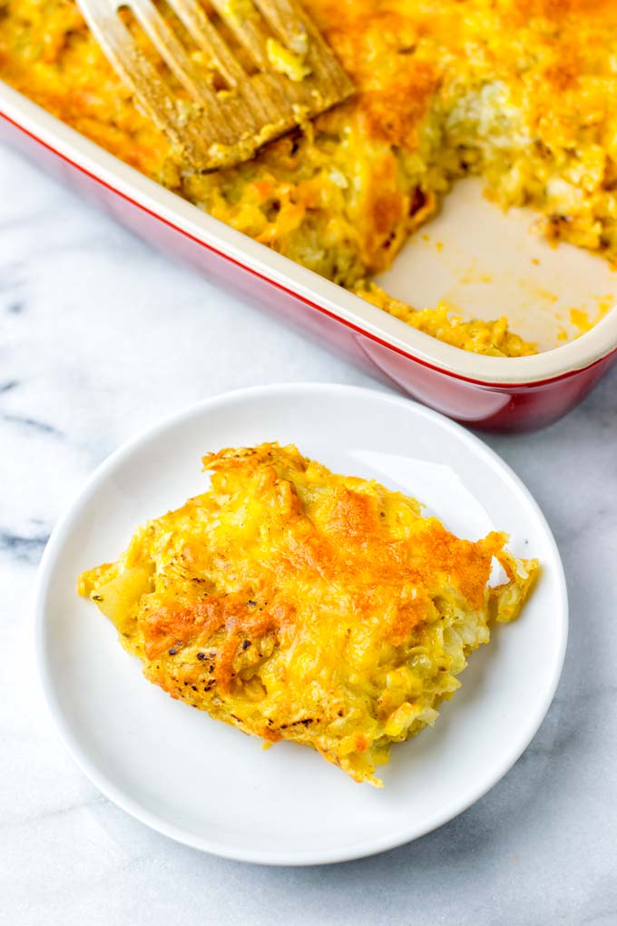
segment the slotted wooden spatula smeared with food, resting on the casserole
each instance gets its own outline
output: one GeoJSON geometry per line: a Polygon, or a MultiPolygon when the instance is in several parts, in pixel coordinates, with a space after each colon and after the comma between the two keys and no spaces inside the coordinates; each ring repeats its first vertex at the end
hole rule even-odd
{"type": "Polygon", "coordinates": [[[94,37],[136,102],[193,169],[248,160],[265,142],[353,93],[352,82],[294,0],[211,0],[244,47],[245,69],[199,0],[167,0],[206,65],[151,0],[78,0],[94,37]],[[175,91],[119,15],[128,8],[186,93],[175,91]]]}

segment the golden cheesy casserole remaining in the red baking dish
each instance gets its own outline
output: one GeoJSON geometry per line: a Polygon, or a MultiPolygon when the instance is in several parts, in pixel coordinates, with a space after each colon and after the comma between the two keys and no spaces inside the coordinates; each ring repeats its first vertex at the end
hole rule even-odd
{"type": "MultiPolygon", "coordinates": [[[[617,254],[612,74],[617,11],[586,0],[310,0],[358,94],[253,161],[191,173],[130,103],[70,0],[8,0],[7,81],[149,176],[439,339],[519,357],[507,323],[367,291],[450,183],[480,173],[554,239],[617,254]]],[[[195,52],[197,55],[198,53],[195,52]]]]}

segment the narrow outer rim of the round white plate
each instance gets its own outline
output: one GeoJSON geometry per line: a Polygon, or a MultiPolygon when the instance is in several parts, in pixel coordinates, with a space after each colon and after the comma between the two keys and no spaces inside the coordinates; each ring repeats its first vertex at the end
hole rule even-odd
{"type": "Polygon", "coordinates": [[[472,807],[476,801],[487,795],[487,793],[498,782],[500,782],[504,775],[506,775],[507,772],[512,769],[512,766],[515,764],[515,762],[518,761],[518,759],[524,754],[524,751],[534,739],[542,722],[546,718],[549,707],[557,690],[557,686],[561,679],[561,672],[563,669],[568,641],[568,631],[568,592],[559,547],[557,546],[553,533],[550,530],[549,523],[545,518],[542,509],[537,504],[535,497],[530,492],[530,490],[527,489],[524,482],[509,466],[509,464],[506,463],[505,460],[503,460],[496,451],[485,444],[485,442],[477,437],[473,432],[470,432],[464,428],[463,425],[448,419],[446,416],[440,414],[437,411],[434,411],[433,409],[427,408],[426,406],[413,401],[413,399],[406,398],[400,394],[386,392],[367,386],[357,386],[337,382],[278,382],[228,390],[223,393],[208,396],[197,402],[191,403],[189,406],[180,407],[177,411],[171,412],[163,419],[155,422],[153,425],[142,429],[140,432],[137,432],[137,434],[120,444],[117,449],[114,450],[108,457],[105,457],[105,459],[86,478],[85,482],[80,485],[80,489],[69,501],[68,506],[64,509],[63,514],[57,520],[56,526],[51,532],[50,538],[43,551],[43,557],[41,558],[41,562],[37,570],[34,591],[35,661],[38,669],[39,682],[43,690],[44,701],[49,714],[54,721],[56,730],[60,735],[60,739],[68,751],[68,755],[72,758],[81,772],[89,779],[89,781],[93,783],[94,787],[96,787],[109,801],[111,801],[117,807],[120,807],[135,820],[139,820],[139,822],[154,830],[155,832],[159,832],[181,845],[188,845],[191,848],[235,861],[251,862],[253,864],[259,865],[289,866],[294,868],[352,861],[359,858],[373,856],[381,852],[386,852],[389,849],[394,849],[401,845],[413,842],[414,840],[419,839],[421,836],[425,836],[427,833],[437,830],[439,827],[443,826],[445,823],[450,822],[450,820],[453,820],[455,817],[458,817],[465,810],[469,809],[469,807],[472,807]],[[551,548],[552,563],[556,568],[555,581],[557,582],[559,593],[559,602],[558,607],[555,608],[555,614],[559,619],[560,638],[558,641],[556,659],[554,661],[552,677],[547,689],[547,694],[545,695],[541,705],[537,707],[534,718],[529,724],[524,738],[521,741],[517,741],[513,748],[510,748],[507,752],[504,752],[504,756],[502,757],[496,769],[493,770],[492,775],[489,776],[486,782],[482,782],[481,786],[473,792],[472,796],[467,796],[463,799],[463,801],[460,799],[451,800],[450,802],[446,803],[441,811],[438,814],[435,814],[429,822],[425,822],[419,827],[407,825],[402,831],[389,831],[389,833],[382,835],[379,838],[363,839],[360,843],[352,844],[345,848],[335,847],[321,851],[319,853],[312,852],[306,856],[289,857],[284,852],[279,853],[278,851],[272,851],[269,849],[262,850],[241,846],[231,847],[229,845],[221,845],[216,841],[216,839],[211,840],[202,836],[197,836],[194,833],[191,833],[189,830],[184,829],[183,827],[174,826],[172,823],[167,822],[167,820],[159,818],[153,811],[149,810],[147,807],[142,806],[137,798],[125,793],[121,788],[117,787],[114,782],[108,779],[105,771],[101,770],[81,749],[79,738],[73,735],[73,732],[71,732],[68,721],[64,716],[64,712],[58,704],[55,693],[55,682],[52,678],[53,673],[45,657],[46,601],[51,580],[54,575],[56,561],[62,551],[68,535],[71,532],[72,521],[79,514],[81,507],[83,507],[83,505],[88,502],[90,496],[96,490],[98,485],[102,482],[105,482],[105,478],[107,477],[108,473],[113,471],[117,465],[130,458],[130,456],[132,456],[132,454],[138,450],[142,444],[149,440],[155,439],[173,426],[184,423],[193,417],[199,417],[202,414],[207,413],[208,409],[210,408],[220,407],[221,405],[225,405],[229,402],[242,401],[244,398],[249,396],[262,396],[267,398],[270,396],[285,394],[289,392],[297,394],[313,394],[315,392],[319,392],[326,394],[332,391],[338,393],[342,392],[350,395],[354,394],[356,396],[370,395],[372,398],[378,397],[385,402],[399,405],[401,407],[409,408],[411,406],[416,414],[420,414],[426,419],[437,422],[438,425],[440,425],[442,428],[445,428],[446,431],[452,432],[458,439],[463,440],[464,443],[470,445],[474,449],[475,453],[480,457],[484,457],[488,463],[493,466],[497,466],[497,468],[500,470],[500,474],[504,477],[507,477],[507,479],[512,483],[513,488],[515,488],[519,493],[524,494],[527,502],[532,507],[532,510],[537,517],[542,529],[544,530],[549,547],[551,548]]]}

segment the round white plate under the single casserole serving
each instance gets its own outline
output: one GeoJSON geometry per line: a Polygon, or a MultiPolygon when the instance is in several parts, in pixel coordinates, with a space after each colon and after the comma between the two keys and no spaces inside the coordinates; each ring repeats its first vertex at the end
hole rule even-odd
{"type": "Polygon", "coordinates": [[[208,399],[136,438],[87,482],[41,564],[40,669],[68,750],[100,790],[159,832],[218,855],[282,865],[363,857],[451,820],[498,782],[549,707],[567,637],[557,547],[537,504],[472,434],[393,394],[339,385],[248,389],[208,399]],[[339,472],[426,503],[471,539],[510,532],[542,574],[524,613],[470,658],[434,730],[392,748],[386,787],[356,784],[313,751],[264,751],[142,678],[113,626],[75,592],[142,521],[204,491],[201,457],[278,440],[339,472]]]}

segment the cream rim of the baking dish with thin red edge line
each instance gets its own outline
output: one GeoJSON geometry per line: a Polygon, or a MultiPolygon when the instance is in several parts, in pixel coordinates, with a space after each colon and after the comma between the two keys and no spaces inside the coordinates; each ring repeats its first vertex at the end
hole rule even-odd
{"type": "Polygon", "coordinates": [[[531,357],[485,357],[445,344],[214,219],[109,154],[4,81],[0,81],[0,116],[94,181],[195,243],[373,341],[457,379],[487,386],[534,385],[571,376],[617,351],[616,307],[576,340],[531,357]]]}

